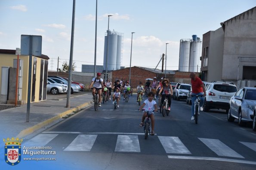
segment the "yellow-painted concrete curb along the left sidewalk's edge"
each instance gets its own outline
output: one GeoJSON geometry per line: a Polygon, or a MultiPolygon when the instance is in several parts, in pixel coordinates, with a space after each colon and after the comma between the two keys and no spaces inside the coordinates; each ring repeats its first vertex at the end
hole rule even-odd
{"type": "Polygon", "coordinates": [[[26,128],[24,130],[22,130],[18,135],[17,137],[19,138],[23,138],[29,134],[32,134],[34,131],[37,131],[38,129],[40,128],[43,128],[44,126],[46,125],[49,125],[50,123],[54,122],[54,121],[57,121],[58,119],[62,119],[63,116],[66,116],[70,113],[73,113],[73,112],[77,112],[77,111],[80,111],[81,109],[89,106],[90,104],[93,104],[93,101],[89,101],[89,102],[86,102],[86,103],[83,103],[83,104],[80,104],[79,106],[77,107],[74,107],[70,110],[67,110],[65,112],[62,112],[60,113],[59,115],[56,115],[56,116],[53,116],[52,118],[50,119],[47,119],[43,122],[40,122],[40,123],[37,123],[36,125],[32,126],[32,127],[29,127],[29,128],[26,128]]]}

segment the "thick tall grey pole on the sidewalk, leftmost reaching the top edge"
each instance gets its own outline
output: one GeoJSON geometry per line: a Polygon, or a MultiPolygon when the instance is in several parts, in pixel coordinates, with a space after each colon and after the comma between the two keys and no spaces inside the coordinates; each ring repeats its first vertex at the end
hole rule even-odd
{"type": "Polygon", "coordinates": [[[67,105],[70,107],[70,92],[71,92],[71,78],[72,78],[72,65],[73,65],[73,46],[74,46],[74,25],[75,25],[75,8],[76,0],[73,0],[73,15],[72,15],[72,30],[71,30],[71,45],[70,45],[70,57],[69,57],[69,74],[68,74],[68,93],[67,93],[67,105]]]}

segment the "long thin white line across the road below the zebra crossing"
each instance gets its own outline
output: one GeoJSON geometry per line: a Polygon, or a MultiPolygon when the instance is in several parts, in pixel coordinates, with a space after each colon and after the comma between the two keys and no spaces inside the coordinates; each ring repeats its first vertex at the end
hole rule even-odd
{"type": "Polygon", "coordinates": [[[253,162],[253,161],[243,161],[243,160],[227,159],[227,158],[212,158],[212,157],[197,157],[197,156],[172,156],[172,155],[168,155],[168,158],[170,158],[170,159],[207,160],[207,161],[224,161],[224,162],[234,162],[234,163],[256,165],[256,162],[253,162]]]}

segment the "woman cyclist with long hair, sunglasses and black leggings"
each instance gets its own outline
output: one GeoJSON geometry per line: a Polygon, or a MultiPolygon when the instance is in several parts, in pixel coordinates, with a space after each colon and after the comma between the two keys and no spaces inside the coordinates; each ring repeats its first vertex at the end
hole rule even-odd
{"type": "Polygon", "coordinates": [[[169,104],[169,107],[168,107],[168,110],[170,111],[171,109],[171,95],[173,95],[173,88],[172,88],[172,85],[169,84],[169,81],[168,79],[165,79],[163,80],[163,86],[161,87],[160,91],[159,91],[159,95],[161,93],[161,91],[163,91],[163,95],[162,95],[162,103],[165,99],[165,96],[167,96],[168,98],[168,104],[169,104]]]}

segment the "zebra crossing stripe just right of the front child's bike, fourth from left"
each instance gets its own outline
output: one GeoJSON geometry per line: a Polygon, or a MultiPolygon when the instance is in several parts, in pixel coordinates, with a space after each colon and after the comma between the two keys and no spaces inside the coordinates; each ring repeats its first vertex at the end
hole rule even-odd
{"type": "Polygon", "coordinates": [[[158,136],[166,153],[191,154],[179,137],[158,136]]]}

